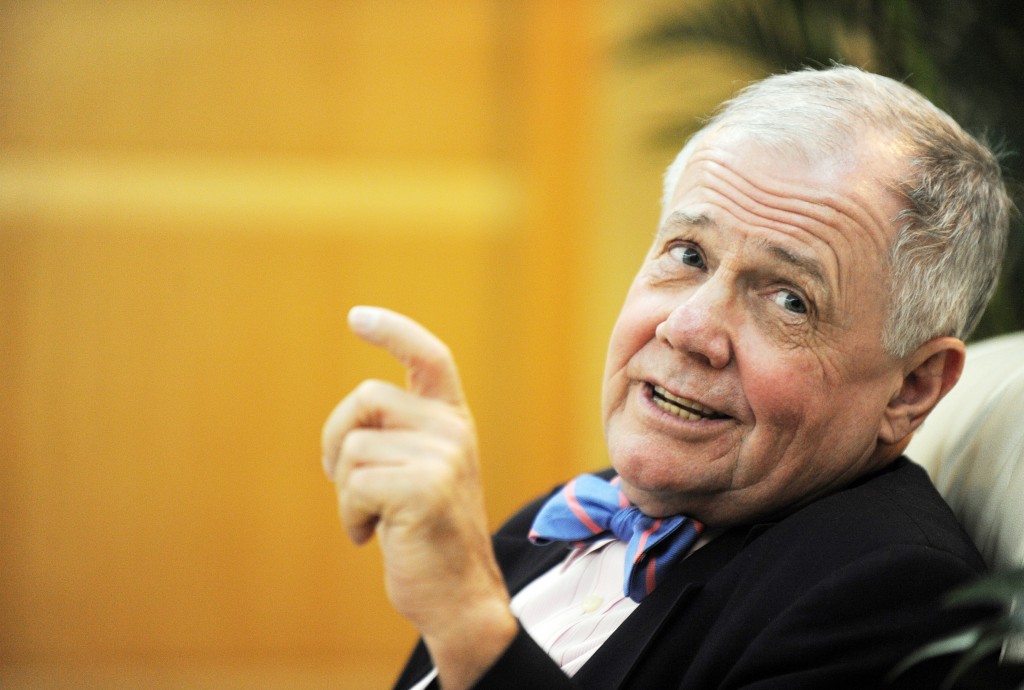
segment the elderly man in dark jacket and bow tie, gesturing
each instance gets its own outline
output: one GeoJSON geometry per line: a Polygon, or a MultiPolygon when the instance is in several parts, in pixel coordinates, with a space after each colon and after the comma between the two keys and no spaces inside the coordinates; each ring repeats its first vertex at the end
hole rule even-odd
{"type": "Polygon", "coordinates": [[[353,309],[410,374],[323,437],[345,529],[377,534],[422,634],[398,687],[870,688],[963,622],[940,597],[984,564],[901,452],[959,377],[1009,206],[992,155],[892,80],[740,92],[670,167],[611,334],[612,470],[494,541],[446,348],[353,309]]]}

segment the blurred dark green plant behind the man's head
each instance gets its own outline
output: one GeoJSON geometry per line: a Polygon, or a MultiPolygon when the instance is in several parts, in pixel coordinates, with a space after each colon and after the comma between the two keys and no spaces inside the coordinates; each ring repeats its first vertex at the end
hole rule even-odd
{"type": "MultiPolygon", "coordinates": [[[[641,32],[629,54],[671,59],[717,45],[777,73],[831,61],[903,81],[965,128],[1004,152],[1004,170],[1024,200],[1024,7],[1019,0],[711,0],[641,32]]],[[[684,6],[685,5],[685,6],[684,6]]],[[[674,145],[692,123],[668,123],[674,145]]],[[[1024,220],[976,339],[1024,329],[1024,220]]]]}

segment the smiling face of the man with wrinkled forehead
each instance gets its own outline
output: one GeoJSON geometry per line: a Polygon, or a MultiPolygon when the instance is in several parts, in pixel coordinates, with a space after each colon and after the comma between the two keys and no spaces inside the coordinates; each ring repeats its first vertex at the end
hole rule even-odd
{"type": "Polygon", "coordinates": [[[612,331],[603,417],[627,495],[729,524],[881,467],[891,219],[864,152],[808,164],[706,137],[612,331]]]}

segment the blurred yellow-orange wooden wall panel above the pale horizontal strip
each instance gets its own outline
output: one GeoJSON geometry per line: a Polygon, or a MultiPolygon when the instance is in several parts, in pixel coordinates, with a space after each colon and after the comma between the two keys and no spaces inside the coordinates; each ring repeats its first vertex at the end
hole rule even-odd
{"type": "Polygon", "coordinates": [[[6,0],[5,142],[481,157],[500,3],[6,0]]]}

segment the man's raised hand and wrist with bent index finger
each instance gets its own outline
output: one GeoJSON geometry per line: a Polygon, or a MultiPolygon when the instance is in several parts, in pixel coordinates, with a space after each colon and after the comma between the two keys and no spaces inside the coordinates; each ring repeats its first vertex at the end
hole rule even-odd
{"type": "Polygon", "coordinates": [[[354,307],[349,326],[406,366],[408,386],[370,380],[346,396],[324,425],[324,469],[352,541],[377,534],[388,596],[420,630],[443,687],[468,687],[517,623],[459,374],[447,346],[408,316],[354,307]]]}

